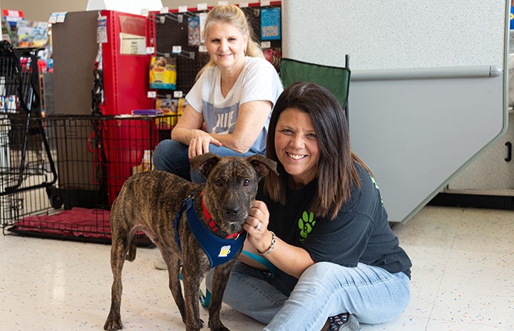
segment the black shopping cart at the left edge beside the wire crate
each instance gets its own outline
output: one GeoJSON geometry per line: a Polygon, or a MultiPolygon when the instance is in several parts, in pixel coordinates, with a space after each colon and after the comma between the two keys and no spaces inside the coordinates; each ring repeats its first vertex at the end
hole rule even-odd
{"type": "Polygon", "coordinates": [[[57,180],[41,115],[38,51],[0,43],[0,196],[57,180]]]}

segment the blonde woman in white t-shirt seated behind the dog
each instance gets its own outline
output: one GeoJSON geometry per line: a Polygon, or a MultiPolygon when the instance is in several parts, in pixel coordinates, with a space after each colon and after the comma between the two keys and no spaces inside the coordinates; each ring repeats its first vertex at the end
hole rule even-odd
{"type": "Polygon", "coordinates": [[[265,154],[269,117],[283,90],[239,7],[215,6],[203,34],[210,61],[185,97],[187,106],[171,140],[160,142],[153,154],[155,169],[193,182],[204,180],[190,174],[189,159],[195,155],[265,154]]]}

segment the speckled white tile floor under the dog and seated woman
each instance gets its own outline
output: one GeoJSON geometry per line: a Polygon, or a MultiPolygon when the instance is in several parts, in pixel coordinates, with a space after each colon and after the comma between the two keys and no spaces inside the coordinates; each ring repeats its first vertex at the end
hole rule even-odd
{"type": "MultiPolygon", "coordinates": [[[[361,330],[514,330],[514,211],[426,206],[394,231],[414,263],[411,305],[393,322],[361,330]]],[[[1,330],[103,330],[109,250],[0,235],[1,330]]],[[[154,256],[154,249],[139,248],[125,263],[125,329],[184,330],[154,256]]],[[[204,309],[202,315],[207,320],[204,309]]],[[[222,320],[234,331],[262,330],[228,307],[222,320]]]]}

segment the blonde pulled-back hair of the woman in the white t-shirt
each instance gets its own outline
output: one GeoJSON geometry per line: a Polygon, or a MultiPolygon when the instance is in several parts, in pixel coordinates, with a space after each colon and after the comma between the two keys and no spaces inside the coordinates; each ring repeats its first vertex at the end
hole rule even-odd
{"type": "MultiPolygon", "coordinates": [[[[207,14],[207,19],[205,20],[205,28],[203,30],[205,39],[207,39],[207,36],[209,36],[209,29],[214,23],[229,23],[232,24],[232,26],[238,28],[243,35],[248,36],[246,55],[252,56],[252,58],[264,58],[262,49],[260,48],[257,41],[255,41],[255,33],[253,32],[250,23],[248,23],[247,17],[238,6],[233,4],[225,4],[212,8],[211,11],[209,11],[209,14],[207,14]]],[[[215,65],[216,63],[211,59],[209,63],[200,69],[196,75],[196,78],[199,78],[205,69],[211,68],[215,65]]]]}

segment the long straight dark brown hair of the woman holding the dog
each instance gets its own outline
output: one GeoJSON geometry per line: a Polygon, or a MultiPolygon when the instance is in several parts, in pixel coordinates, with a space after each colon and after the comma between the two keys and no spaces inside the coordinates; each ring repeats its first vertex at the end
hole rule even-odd
{"type": "MultiPolygon", "coordinates": [[[[319,159],[317,162],[317,199],[311,209],[315,215],[334,219],[344,202],[351,197],[351,186],[360,188],[359,175],[354,162],[369,168],[351,151],[349,128],[344,110],[326,88],[298,82],[289,85],[274,105],[267,135],[267,157],[277,162],[279,176],[271,174],[264,179],[264,188],[274,201],[286,204],[288,174],[279,162],[274,146],[275,131],[280,114],[287,108],[306,112],[312,118],[317,135],[319,159]]],[[[369,171],[371,174],[371,171],[369,171]]]]}

